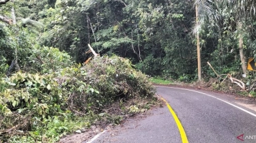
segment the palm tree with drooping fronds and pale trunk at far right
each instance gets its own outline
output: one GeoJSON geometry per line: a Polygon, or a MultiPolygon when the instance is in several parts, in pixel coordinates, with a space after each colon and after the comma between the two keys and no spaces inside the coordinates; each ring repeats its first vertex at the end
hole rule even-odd
{"type": "Polygon", "coordinates": [[[255,14],[255,3],[253,0],[196,0],[195,4],[199,5],[201,22],[204,22],[206,25],[212,25],[210,22],[217,23],[216,27],[218,27],[218,33],[221,33],[220,25],[225,23],[225,18],[230,18],[234,21],[232,24],[234,27],[236,27],[236,33],[238,33],[236,38],[238,39],[242,72],[246,74],[246,57],[244,55],[243,29],[245,27],[244,24],[246,23],[247,18],[255,14]]]}

